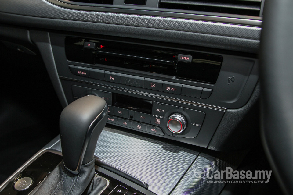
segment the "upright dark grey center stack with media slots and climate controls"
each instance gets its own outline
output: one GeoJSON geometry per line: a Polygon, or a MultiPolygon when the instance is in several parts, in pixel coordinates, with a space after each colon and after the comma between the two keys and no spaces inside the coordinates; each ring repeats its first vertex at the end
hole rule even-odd
{"type": "Polygon", "coordinates": [[[243,53],[84,34],[50,40],[68,103],[96,95],[109,124],[201,147],[258,80],[257,60],[243,53]]]}

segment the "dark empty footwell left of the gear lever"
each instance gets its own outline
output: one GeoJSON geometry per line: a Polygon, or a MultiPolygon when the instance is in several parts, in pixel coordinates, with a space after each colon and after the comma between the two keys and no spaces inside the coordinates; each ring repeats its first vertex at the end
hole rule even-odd
{"type": "Polygon", "coordinates": [[[59,133],[62,107],[44,62],[0,43],[0,183],[59,133]]]}

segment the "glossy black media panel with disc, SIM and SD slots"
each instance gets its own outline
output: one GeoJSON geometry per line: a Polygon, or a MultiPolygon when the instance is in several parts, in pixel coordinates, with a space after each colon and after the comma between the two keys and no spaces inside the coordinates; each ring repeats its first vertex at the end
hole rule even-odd
{"type": "MultiPolygon", "coordinates": [[[[74,62],[119,67],[132,73],[136,70],[159,73],[211,84],[216,83],[223,61],[220,55],[184,48],[76,37],[65,38],[65,51],[67,59],[74,62]]],[[[138,72],[136,76],[140,76],[138,72]]]]}

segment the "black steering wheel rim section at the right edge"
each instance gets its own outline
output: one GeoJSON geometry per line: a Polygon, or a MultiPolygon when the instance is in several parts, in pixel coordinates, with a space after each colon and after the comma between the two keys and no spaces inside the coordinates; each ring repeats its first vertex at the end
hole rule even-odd
{"type": "Polygon", "coordinates": [[[262,138],[272,167],[293,194],[293,1],[266,1],[261,46],[262,138]]]}

